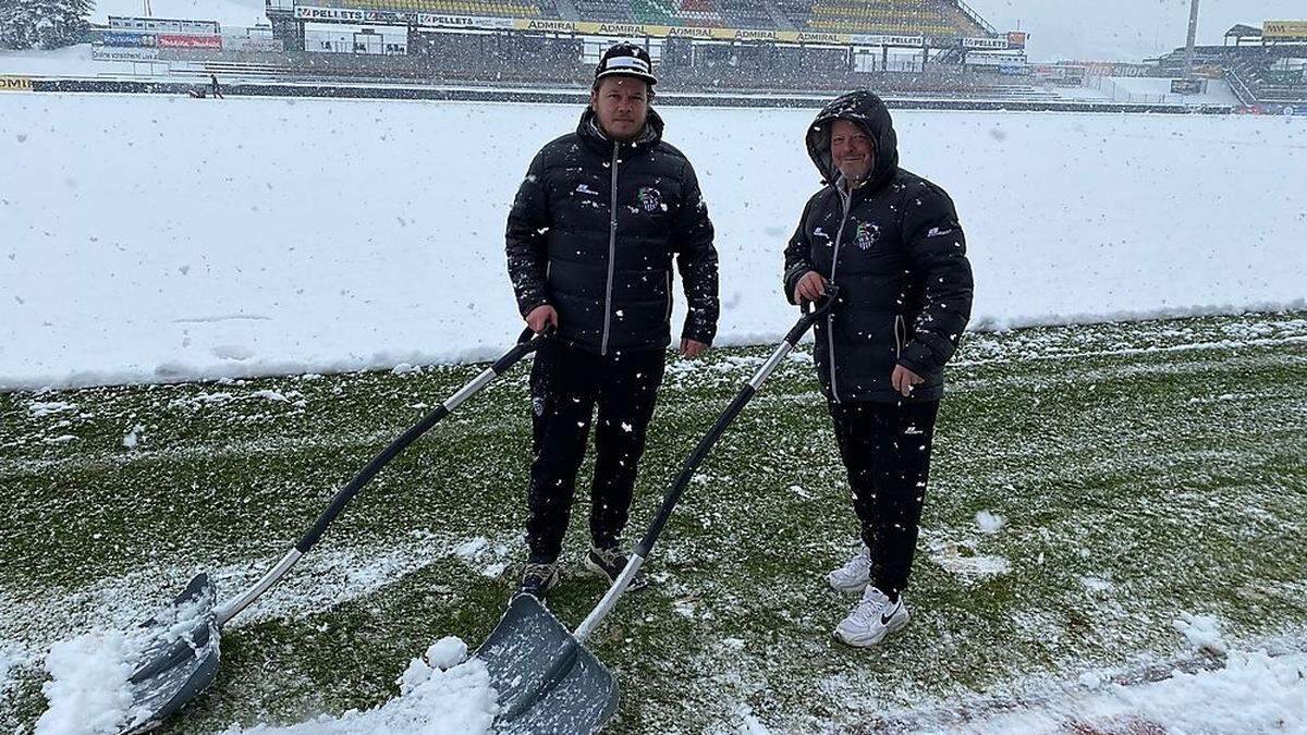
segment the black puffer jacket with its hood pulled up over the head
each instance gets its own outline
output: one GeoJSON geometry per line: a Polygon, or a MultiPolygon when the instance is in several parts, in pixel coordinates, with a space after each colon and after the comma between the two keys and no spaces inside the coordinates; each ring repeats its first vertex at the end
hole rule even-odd
{"type": "Polygon", "coordinates": [[[808,129],[808,153],[826,187],[804,208],[786,247],[786,297],[809,271],[840,286],[817,323],[814,350],[833,400],[904,400],[890,383],[895,364],[925,383],[910,400],[944,395],[944,365],[971,318],[971,264],[949,195],[898,166],[890,112],[870,92],[826,106],[808,129]],[[867,183],[844,192],[830,154],[836,119],[860,126],[876,145],[867,183]]]}

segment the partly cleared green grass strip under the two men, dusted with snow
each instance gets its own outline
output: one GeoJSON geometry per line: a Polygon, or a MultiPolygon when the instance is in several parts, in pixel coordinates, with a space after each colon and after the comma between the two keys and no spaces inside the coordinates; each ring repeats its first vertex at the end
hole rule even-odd
{"type": "MultiPolygon", "coordinates": [[[[630,536],[763,354],[672,362],[630,536]]],[[[41,714],[52,643],[144,617],[200,569],[244,589],[476,371],[0,395],[0,731],[41,714]]],[[[430,647],[485,640],[523,557],[524,377],[401,455],[233,621],[173,731],[484,722],[477,672],[435,677],[454,658],[430,647]],[[461,714],[439,709],[451,692],[461,714]]],[[[802,352],[691,484],[659,585],[593,641],[623,687],[613,732],[1307,727],[1307,313],[972,335],[951,377],[902,634],[830,638],[852,599],[821,577],[853,523],[802,352]]],[[[601,594],[586,513],[553,603],[571,623],[601,594]]]]}

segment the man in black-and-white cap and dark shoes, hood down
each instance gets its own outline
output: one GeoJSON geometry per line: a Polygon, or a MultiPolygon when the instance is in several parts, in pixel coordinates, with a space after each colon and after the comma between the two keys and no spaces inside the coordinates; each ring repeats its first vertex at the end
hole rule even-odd
{"type": "Polygon", "coordinates": [[[519,591],[538,598],[558,582],[592,420],[584,564],[609,583],[626,566],[620,536],[672,336],[673,256],[689,302],[681,354],[698,357],[716,333],[712,222],[694,169],[650,109],[656,81],[643,48],[609,48],[576,131],[536,154],[508,214],[518,307],[537,333],[555,330],[531,370],[531,556],[519,591]]]}

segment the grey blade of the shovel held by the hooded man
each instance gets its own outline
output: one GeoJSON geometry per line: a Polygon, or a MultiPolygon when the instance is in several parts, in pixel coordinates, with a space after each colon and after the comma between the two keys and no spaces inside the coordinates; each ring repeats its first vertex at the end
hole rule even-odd
{"type": "Polygon", "coordinates": [[[617,681],[532,595],[516,595],[476,657],[499,694],[498,732],[596,732],[617,681]]]}

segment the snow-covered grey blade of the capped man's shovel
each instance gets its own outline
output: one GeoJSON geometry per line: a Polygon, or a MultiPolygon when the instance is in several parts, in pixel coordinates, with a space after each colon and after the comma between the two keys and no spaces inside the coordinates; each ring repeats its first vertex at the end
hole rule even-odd
{"type": "Polygon", "coordinates": [[[218,626],[213,620],[217,592],[208,574],[199,574],[171,606],[140,625],[145,650],[128,680],[129,722],[119,735],[145,732],[195,698],[218,674],[218,626]]]}

